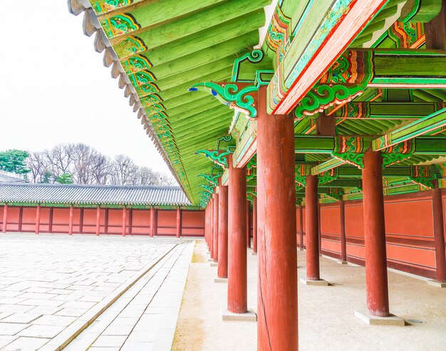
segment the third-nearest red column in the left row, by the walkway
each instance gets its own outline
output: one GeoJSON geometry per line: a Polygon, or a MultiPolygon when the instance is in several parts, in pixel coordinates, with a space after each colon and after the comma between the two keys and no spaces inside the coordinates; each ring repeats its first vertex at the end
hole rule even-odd
{"type": "MultiPolygon", "coordinates": [[[[221,184],[221,178],[219,183],[221,184]]],[[[219,185],[218,195],[218,268],[219,278],[228,277],[228,187],[219,185]]]]}

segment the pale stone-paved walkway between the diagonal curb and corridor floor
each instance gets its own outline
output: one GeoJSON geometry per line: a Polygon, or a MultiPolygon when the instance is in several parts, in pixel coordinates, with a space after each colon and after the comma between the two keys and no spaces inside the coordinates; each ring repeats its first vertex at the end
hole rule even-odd
{"type": "Polygon", "coordinates": [[[64,351],[169,351],[193,250],[170,251],[64,351]]]}

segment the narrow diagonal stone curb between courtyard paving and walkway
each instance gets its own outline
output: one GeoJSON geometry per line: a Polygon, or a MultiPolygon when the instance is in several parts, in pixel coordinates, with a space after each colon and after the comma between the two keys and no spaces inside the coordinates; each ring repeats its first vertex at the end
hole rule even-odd
{"type": "Polygon", "coordinates": [[[178,244],[175,244],[167,250],[165,253],[162,253],[160,256],[156,258],[155,261],[150,263],[149,265],[142,268],[138,273],[128,278],[123,285],[110,293],[107,297],[97,303],[93,308],[90,308],[87,312],[85,312],[81,317],[75,320],[71,325],[68,326],[65,330],[60,332],[56,337],[54,337],[50,342],[46,345],[43,345],[39,351],[60,351],[63,347],[66,347],[75,337],[77,337],[83,330],[85,330],[88,325],[93,323],[93,321],[98,318],[107,308],[109,308],[113,303],[115,303],[118,298],[120,298],[128,289],[130,289],[137,281],[145,276],[145,274],[150,271],[157,263],[159,263],[162,258],[165,258],[168,253],[170,253],[174,248],[176,248],[178,244]]]}

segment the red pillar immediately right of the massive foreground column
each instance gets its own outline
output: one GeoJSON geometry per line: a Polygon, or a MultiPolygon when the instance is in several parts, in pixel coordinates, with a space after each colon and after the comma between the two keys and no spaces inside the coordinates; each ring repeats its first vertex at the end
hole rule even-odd
{"type": "Polygon", "coordinates": [[[318,177],[306,176],[306,278],[318,281],[319,274],[319,220],[318,220],[318,177]]]}

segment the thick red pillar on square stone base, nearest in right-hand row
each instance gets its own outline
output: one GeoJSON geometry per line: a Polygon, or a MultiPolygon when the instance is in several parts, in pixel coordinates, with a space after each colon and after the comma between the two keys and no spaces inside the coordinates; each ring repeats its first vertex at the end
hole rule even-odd
{"type": "Polygon", "coordinates": [[[383,157],[380,152],[365,152],[363,210],[367,308],[371,315],[388,317],[389,297],[382,166],[383,157]]]}

